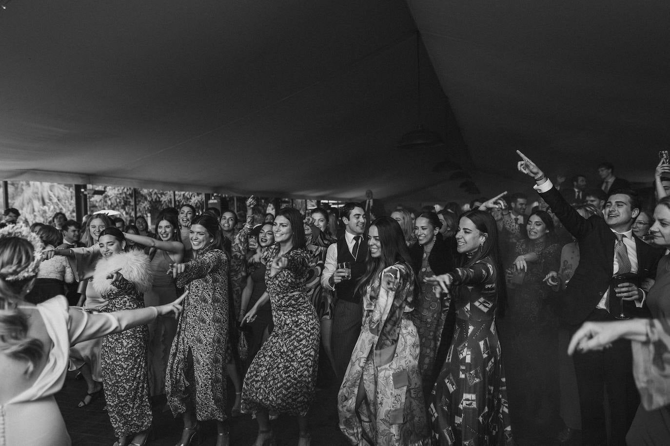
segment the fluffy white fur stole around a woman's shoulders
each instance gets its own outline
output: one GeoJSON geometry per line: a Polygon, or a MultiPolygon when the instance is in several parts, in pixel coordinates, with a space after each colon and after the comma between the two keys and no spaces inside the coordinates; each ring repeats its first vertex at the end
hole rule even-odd
{"type": "Polygon", "coordinates": [[[121,268],[121,274],[126,280],[132,282],[140,293],[146,293],[151,290],[151,267],[149,267],[149,257],[142,251],[128,251],[113,255],[109,259],[105,257],[98,260],[93,273],[91,282],[96,292],[105,294],[111,290],[116,290],[112,286],[111,280],[107,279],[107,274],[115,269],[121,268]]]}

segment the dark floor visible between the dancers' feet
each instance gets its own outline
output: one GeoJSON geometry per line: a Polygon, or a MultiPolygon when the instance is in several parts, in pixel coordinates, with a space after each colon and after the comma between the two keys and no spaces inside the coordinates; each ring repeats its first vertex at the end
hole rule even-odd
{"type": "MultiPolygon", "coordinates": [[[[312,428],[312,445],[314,446],[346,446],[348,444],[337,428],[336,392],[336,388],[320,390],[314,399],[309,415],[312,428]]],[[[86,384],[84,384],[84,381],[75,380],[74,375],[68,374],[63,390],[56,395],[70,437],[72,437],[73,446],[112,446],[116,439],[109,423],[109,417],[107,413],[103,412],[105,404],[103,399],[98,399],[80,409],[77,407],[77,403],[85,394],[86,384]]],[[[231,397],[234,397],[234,395],[231,395],[231,397]]],[[[277,436],[278,446],[297,444],[298,434],[295,417],[282,415],[279,419],[273,421],[273,429],[277,436]]],[[[163,413],[157,409],[153,417],[153,431],[155,439],[147,442],[147,445],[174,446],[180,438],[182,421],[174,419],[169,411],[163,413]]],[[[249,415],[231,419],[231,446],[252,445],[257,431],[256,421],[252,420],[249,415]]],[[[216,443],[214,423],[205,423],[203,433],[204,438],[201,444],[214,446],[216,443]]]]}

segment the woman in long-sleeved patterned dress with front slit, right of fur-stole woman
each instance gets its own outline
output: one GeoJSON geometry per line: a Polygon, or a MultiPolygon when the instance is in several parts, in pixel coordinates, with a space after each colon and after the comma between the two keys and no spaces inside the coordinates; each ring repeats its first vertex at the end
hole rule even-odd
{"type": "Polygon", "coordinates": [[[189,294],[167,361],[165,390],[172,414],[182,414],[184,431],[178,445],[189,445],[198,421],[215,420],[217,446],[228,445],[226,367],[228,343],[228,257],[222,251],[218,221],[208,214],[190,226],[194,258],[175,263],[177,286],[189,294]]]}

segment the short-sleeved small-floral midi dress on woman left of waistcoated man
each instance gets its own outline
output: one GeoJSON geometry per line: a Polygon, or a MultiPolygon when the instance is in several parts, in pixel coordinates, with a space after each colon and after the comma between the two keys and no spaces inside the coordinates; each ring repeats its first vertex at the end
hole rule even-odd
{"type": "MultiPolygon", "coordinates": [[[[277,253],[279,243],[265,252],[265,263],[271,264],[277,253]]],[[[275,327],[247,370],[243,413],[265,409],[304,416],[314,398],[320,325],[305,289],[310,255],[293,249],[285,257],[283,271],[265,272],[275,327]]]]}

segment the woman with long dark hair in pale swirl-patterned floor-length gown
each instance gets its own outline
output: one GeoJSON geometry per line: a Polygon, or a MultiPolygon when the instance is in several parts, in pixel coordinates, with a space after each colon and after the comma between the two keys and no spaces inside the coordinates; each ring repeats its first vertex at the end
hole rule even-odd
{"type": "Polygon", "coordinates": [[[379,217],[368,246],[356,285],[363,324],[338,393],[340,429],[352,445],[429,445],[419,336],[409,317],[416,278],[400,225],[379,217]]]}

